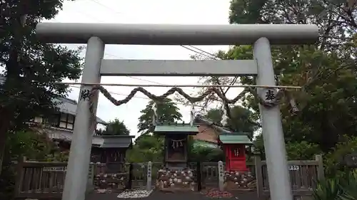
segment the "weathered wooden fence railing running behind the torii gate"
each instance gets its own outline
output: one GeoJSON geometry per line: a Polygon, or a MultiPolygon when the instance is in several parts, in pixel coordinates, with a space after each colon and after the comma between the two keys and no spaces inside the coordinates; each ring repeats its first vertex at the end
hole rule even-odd
{"type": "MultiPolygon", "coordinates": [[[[224,165],[225,163],[223,163],[224,165]]],[[[64,189],[66,176],[66,162],[31,162],[21,160],[18,162],[16,197],[29,199],[60,199],[64,189]]],[[[219,171],[217,162],[188,163],[195,174],[196,181],[203,187],[219,187],[219,171]],[[198,166],[199,165],[199,166],[198,166]],[[199,169],[198,169],[199,168],[199,169]],[[197,173],[200,173],[198,176],[197,173]]],[[[247,163],[253,177],[256,177],[256,189],[259,197],[269,196],[268,174],[266,162],[260,157],[255,157],[254,162],[247,163]]],[[[163,163],[151,163],[151,180],[148,180],[148,163],[114,163],[91,164],[88,177],[88,191],[94,189],[99,176],[104,174],[124,172],[125,184],[131,189],[147,189],[147,184],[154,188],[158,170],[164,167],[163,163]]],[[[291,179],[291,189],[295,196],[309,196],[316,188],[316,181],[323,179],[323,164],[321,155],[315,160],[288,161],[291,179]]],[[[110,182],[110,181],[109,181],[110,182]]],[[[113,183],[118,184],[118,179],[113,183]]]]}

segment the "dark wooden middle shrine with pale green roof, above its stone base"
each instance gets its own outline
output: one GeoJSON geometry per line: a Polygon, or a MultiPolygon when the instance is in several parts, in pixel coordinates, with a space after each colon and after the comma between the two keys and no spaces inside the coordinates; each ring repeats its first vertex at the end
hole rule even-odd
{"type": "Polygon", "coordinates": [[[164,163],[168,169],[187,167],[188,135],[196,135],[198,127],[187,124],[156,125],[155,134],[165,135],[164,163]]]}

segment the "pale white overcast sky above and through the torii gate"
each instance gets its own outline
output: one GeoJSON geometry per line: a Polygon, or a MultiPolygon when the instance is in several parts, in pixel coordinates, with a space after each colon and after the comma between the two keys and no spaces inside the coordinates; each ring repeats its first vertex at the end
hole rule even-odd
{"type": "MultiPolygon", "coordinates": [[[[228,24],[229,2],[231,0],[76,0],[65,1],[60,11],[51,22],[65,23],[174,23],[174,24],[228,24]]],[[[66,45],[66,44],[64,44],[66,45]]],[[[66,45],[77,48],[79,45],[66,45]]],[[[83,44],[82,44],[83,46],[83,44]]],[[[228,50],[228,46],[195,46],[214,53],[228,50]]],[[[106,45],[104,59],[135,60],[189,60],[196,53],[181,46],[130,46],[106,45]]],[[[85,51],[81,53],[84,57],[85,51]]],[[[101,83],[130,84],[197,84],[196,77],[102,77],[101,83]]],[[[76,87],[79,87],[78,85],[76,87]]],[[[105,86],[116,99],[123,99],[133,87],[105,86]]],[[[169,88],[146,88],[155,95],[165,93],[169,88]]],[[[186,93],[195,94],[194,88],[184,88],[186,93]]],[[[231,95],[234,95],[234,91],[231,95]]],[[[228,94],[228,97],[230,95],[228,94]]],[[[78,100],[79,88],[72,88],[69,98],[78,100]]],[[[110,121],[123,120],[131,135],[138,136],[137,124],[149,99],[143,94],[125,105],[115,106],[103,95],[99,96],[97,116],[110,121]]],[[[178,105],[183,120],[189,122],[191,107],[178,105]]]]}

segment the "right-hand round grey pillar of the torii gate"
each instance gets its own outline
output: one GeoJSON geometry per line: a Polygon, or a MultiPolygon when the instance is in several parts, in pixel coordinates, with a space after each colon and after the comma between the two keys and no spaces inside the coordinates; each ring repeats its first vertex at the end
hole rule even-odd
{"type": "MultiPolygon", "coordinates": [[[[267,38],[259,38],[254,43],[253,56],[258,67],[256,84],[276,85],[271,46],[267,38]]],[[[266,89],[258,88],[258,95],[266,99],[266,91],[266,89]]],[[[273,179],[268,179],[271,199],[292,199],[280,108],[279,106],[267,108],[259,105],[259,110],[268,177],[273,177],[273,179]]]]}

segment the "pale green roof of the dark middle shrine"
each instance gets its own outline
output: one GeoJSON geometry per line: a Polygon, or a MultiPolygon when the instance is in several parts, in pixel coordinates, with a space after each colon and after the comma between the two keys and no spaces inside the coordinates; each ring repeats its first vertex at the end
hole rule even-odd
{"type": "Polygon", "coordinates": [[[198,127],[195,125],[192,127],[187,124],[156,125],[154,133],[196,135],[198,133],[198,127]]]}

